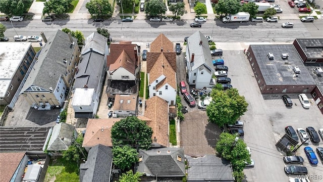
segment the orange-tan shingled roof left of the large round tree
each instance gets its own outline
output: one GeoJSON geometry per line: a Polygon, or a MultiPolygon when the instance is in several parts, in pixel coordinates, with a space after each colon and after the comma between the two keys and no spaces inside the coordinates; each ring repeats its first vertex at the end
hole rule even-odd
{"type": "Polygon", "coordinates": [[[94,147],[98,144],[112,147],[111,127],[121,119],[88,119],[82,147],[94,147]]]}

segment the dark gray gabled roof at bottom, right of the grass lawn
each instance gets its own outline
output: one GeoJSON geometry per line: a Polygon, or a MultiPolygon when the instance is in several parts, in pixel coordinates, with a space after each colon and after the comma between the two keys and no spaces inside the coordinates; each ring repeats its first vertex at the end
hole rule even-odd
{"type": "Polygon", "coordinates": [[[111,167],[112,148],[96,145],[90,149],[86,163],[80,165],[80,181],[110,181],[111,167]]]}

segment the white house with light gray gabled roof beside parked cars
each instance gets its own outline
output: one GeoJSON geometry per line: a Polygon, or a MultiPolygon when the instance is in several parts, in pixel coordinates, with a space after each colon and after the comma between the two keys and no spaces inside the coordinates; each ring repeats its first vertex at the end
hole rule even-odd
{"type": "Polygon", "coordinates": [[[186,66],[188,84],[195,85],[195,88],[213,87],[217,84],[212,78],[214,67],[208,41],[200,31],[187,38],[186,66]]]}

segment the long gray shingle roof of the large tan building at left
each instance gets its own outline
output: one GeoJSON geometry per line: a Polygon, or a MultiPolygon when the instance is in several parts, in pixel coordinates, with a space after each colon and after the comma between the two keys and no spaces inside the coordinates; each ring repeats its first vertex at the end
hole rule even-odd
{"type": "Polygon", "coordinates": [[[49,90],[49,87],[56,88],[60,76],[65,74],[74,48],[78,46],[77,39],[72,38],[74,44],[71,44],[68,34],[61,30],[57,30],[55,35],[48,38],[22,90],[26,90],[31,85],[47,90],[49,90]],[[67,60],[67,63],[63,62],[64,58],[67,60]]]}

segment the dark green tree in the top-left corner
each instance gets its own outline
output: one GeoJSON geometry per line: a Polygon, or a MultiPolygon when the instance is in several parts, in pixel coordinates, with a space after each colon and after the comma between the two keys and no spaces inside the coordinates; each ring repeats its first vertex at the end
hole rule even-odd
{"type": "Polygon", "coordinates": [[[33,0],[0,0],[0,12],[7,16],[21,16],[27,12],[33,0]]]}

